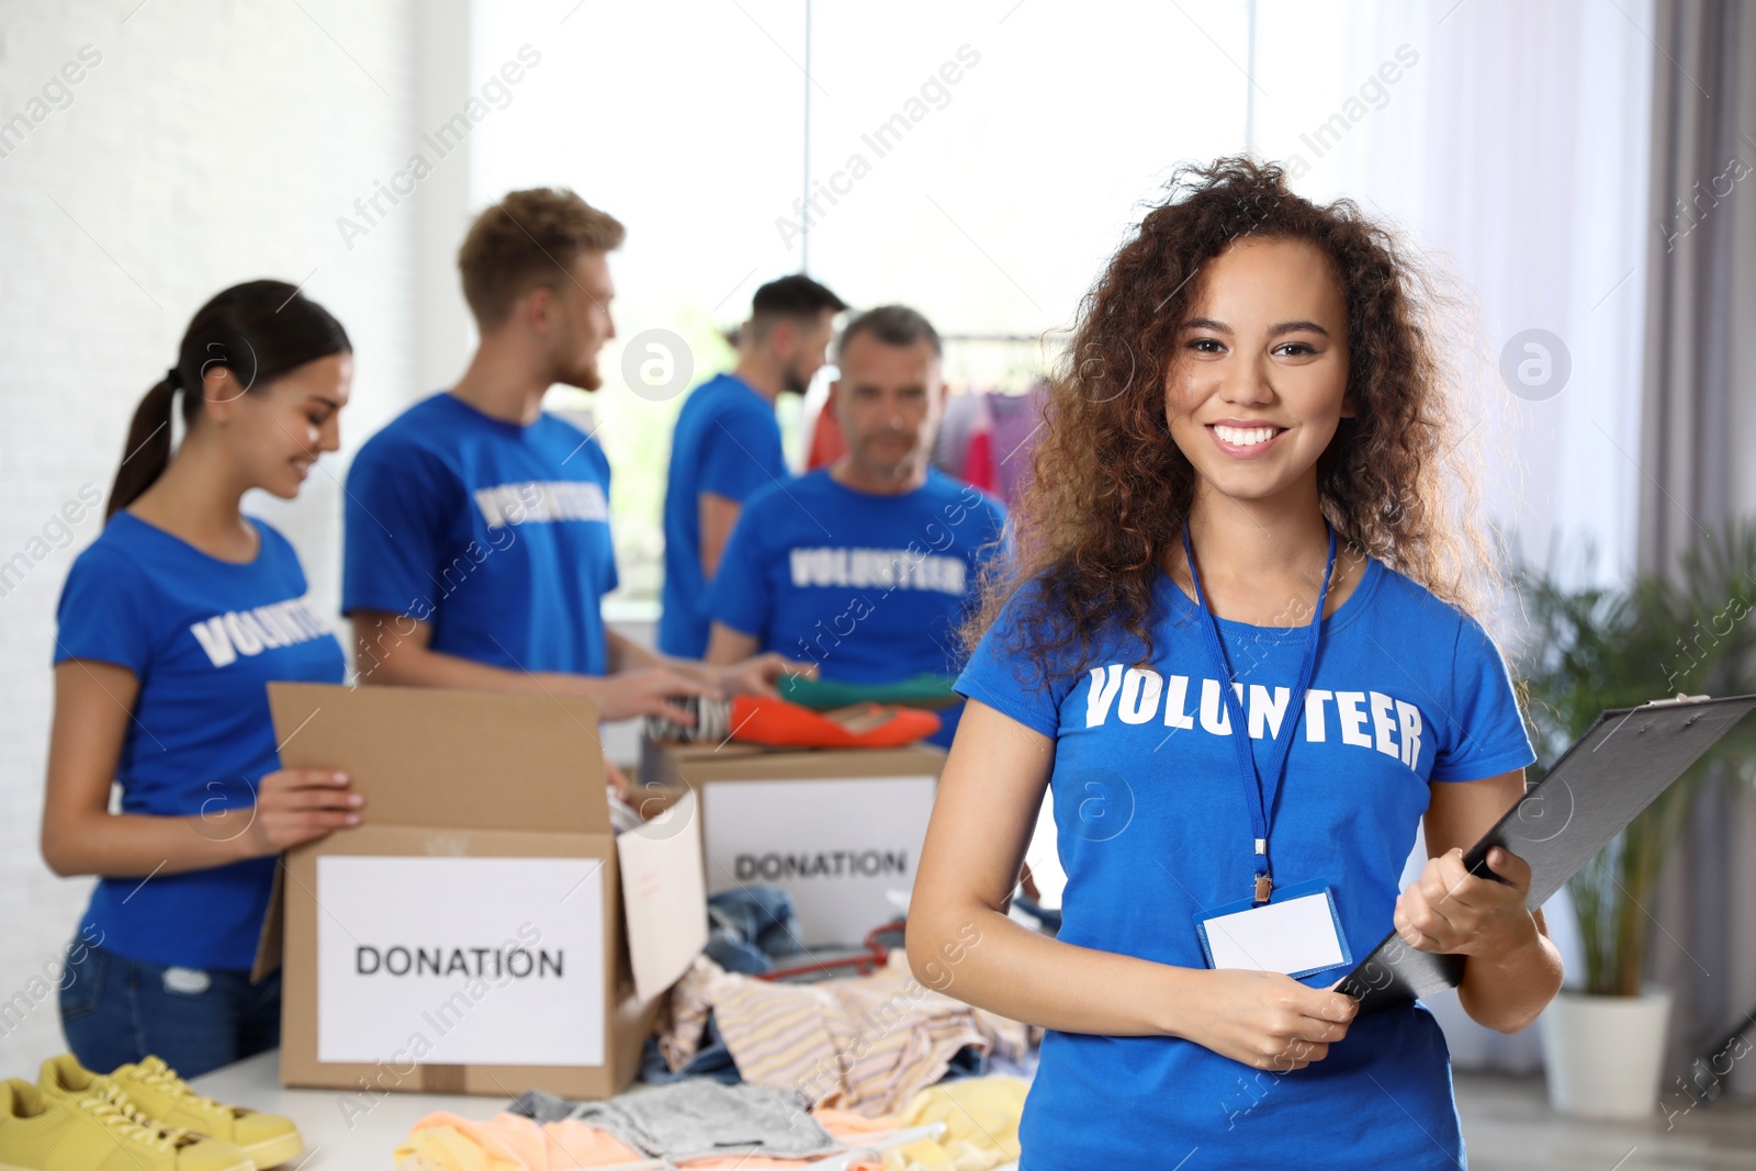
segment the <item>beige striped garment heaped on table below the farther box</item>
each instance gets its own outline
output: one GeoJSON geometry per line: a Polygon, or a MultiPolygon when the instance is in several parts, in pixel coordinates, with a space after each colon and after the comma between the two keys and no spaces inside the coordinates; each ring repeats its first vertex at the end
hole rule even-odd
{"type": "Polygon", "coordinates": [[[697,959],[658,1025],[658,1052],[673,1071],[695,1057],[709,1013],[746,1083],[864,1115],[899,1110],[962,1050],[1022,1060],[1031,1041],[1018,1022],[918,983],[901,953],[871,976],[810,985],[752,980],[697,959]]]}

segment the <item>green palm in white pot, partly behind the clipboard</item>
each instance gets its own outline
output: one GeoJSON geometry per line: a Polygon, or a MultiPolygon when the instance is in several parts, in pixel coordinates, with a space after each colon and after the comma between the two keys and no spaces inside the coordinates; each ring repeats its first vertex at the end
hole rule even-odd
{"type": "MultiPolygon", "coordinates": [[[[1517,674],[1538,762],[1536,779],[1598,713],[1684,695],[1756,690],[1756,525],[1703,537],[1666,576],[1619,588],[1561,585],[1521,567],[1529,623],[1517,674]]],[[[1544,1060],[1556,1110],[1640,1117],[1658,1104],[1670,992],[1644,983],[1649,913],[1665,862],[1696,797],[1719,778],[1745,778],[1756,737],[1745,722],[1705,755],[1568,881],[1584,971],[1544,1011],[1544,1060]]]]}

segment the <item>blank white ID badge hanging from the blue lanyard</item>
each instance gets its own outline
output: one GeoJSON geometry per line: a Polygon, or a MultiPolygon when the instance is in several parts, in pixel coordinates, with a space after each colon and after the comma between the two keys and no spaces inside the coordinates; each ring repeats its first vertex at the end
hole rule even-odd
{"type": "Polygon", "coordinates": [[[1196,934],[1208,967],[1284,973],[1298,980],[1354,962],[1335,897],[1322,881],[1275,890],[1263,906],[1245,899],[1203,911],[1196,915],[1196,934]]]}

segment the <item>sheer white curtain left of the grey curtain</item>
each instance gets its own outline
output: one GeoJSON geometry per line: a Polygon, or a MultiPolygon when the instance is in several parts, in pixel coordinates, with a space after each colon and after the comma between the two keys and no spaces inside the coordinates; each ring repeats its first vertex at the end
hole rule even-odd
{"type": "MultiPolygon", "coordinates": [[[[1263,0],[1257,16],[1257,151],[1299,156],[1301,193],[1391,216],[1473,290],[1484,504],[1526,558],[1600,581],[1635,564],[1651,32],[1633,0],[1263,0]],[[1551,381],[1512,393],[1500,358],[1526,330],[1565,351],[1519,348],[1551,381]]],[[[1496,634],[1515,653],[1515,607],[1496,634]]],[[[1565,894],[1547,913],[1577,971],[1565,894]]],[[[1535,1029],[1480,1029],[1456,995],[1433,1009],[1459,1067],[1540,1067],[1535,1029]]]]}

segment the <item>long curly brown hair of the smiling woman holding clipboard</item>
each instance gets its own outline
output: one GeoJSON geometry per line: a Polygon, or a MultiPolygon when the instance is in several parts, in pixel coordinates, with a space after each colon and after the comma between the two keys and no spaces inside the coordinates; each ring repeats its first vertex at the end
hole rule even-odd
{"type": "Polygon", "coordinates": [[[1450,393],[1461,355],[1445,344],[1456,298],[1352,200],[1312,204],[1278,165],[1236,156],[1178,167],[1080,304],[1013,514],[1013,557],[990,572],[968,646],[1027,590],[1008,650],[1038,679],[1064,671],[1075,646],[1075,669],[1087,665],[1117,621],[1143,648],[1140,662],[1152,657],[1152,588],[1196,493],[1166,418],[1166,372],[1203,265],[1243,239],[1308,241],[1342,286],[1357,416],[1342,420],[1317,463],[1336,541],[1479,609],[1493,560],[1473,520],[1473,478],[1461,460],[1445,465],[1468,437],[1450,393]]]}

